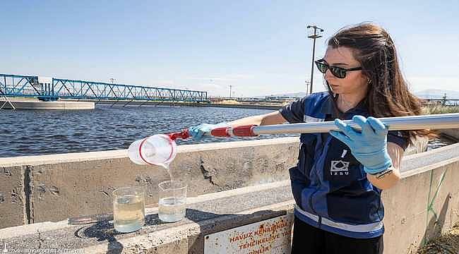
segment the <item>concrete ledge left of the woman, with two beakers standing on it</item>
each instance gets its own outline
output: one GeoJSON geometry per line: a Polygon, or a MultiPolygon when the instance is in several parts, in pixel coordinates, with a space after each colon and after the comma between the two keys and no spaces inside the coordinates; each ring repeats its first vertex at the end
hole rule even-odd
{"type": "Polygon", "coordinates": [[[189,198],[181,222],[160,222],[157,208],[150,208],[146,226],[130,234],[117,234],[109,221],[44,222],[0,229],[0,243],[11,249],[67,248],[84,253],[203,253],[207,234],[291,213],[289,184],[281,181],[189,198]]]}

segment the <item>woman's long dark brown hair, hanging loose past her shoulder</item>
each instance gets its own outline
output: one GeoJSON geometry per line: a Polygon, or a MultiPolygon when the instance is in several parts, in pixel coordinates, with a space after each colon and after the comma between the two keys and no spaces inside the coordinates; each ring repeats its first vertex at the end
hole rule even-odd
{"type": "MultiPolygon", "coordinates": [[[[328,47],[352,49],[369,78],[364,104],[375,117],[413,116],[421,114],[419,99],[408,90],[391,35],[379,25],[360,23],[342,28],[328,40],[328,47]]],[[[331,92],[330,87],[328,87],[331,92]]],[[[429,135],[427,130],[404,132],[405,138],[429,135]]]]}

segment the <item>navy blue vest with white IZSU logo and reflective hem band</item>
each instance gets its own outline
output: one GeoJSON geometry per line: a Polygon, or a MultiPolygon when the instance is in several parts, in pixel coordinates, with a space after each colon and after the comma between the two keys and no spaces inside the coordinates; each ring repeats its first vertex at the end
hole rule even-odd
{"type": "MultiPolygon", "coordinates": [[[[304,122],[333,121],[327,92],[304,99],[304,122]]],[[[368,116],[357,106],[344,114],[368,116]]],[[[297,167],[290,169],[295,215],[312,226],[353,238],[383,234],[381,190],[366,179],[350,148],[328,133],[302,134],[297,167]]]]}

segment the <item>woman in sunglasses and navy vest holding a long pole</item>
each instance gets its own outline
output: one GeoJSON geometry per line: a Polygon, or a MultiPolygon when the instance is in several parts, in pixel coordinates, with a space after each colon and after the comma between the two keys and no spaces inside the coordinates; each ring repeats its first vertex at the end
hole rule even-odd
{"type": "Polygon", "coordinates": [[[383,253],[381,191],[400,181],[410,140],[424,131],[387,131],[375,117],[420,114],[407,89],[395,45],[371,23],[345,28],[316,61],[328,92],[279,111],[218,125],[192,127],[194,138],[220,126],[333,121],[340,131],[302,134],[297,167],[290,169],[296,201],[292,253],[383,253]],[[362,127],[355,131],[340,119],[362,127]]]}

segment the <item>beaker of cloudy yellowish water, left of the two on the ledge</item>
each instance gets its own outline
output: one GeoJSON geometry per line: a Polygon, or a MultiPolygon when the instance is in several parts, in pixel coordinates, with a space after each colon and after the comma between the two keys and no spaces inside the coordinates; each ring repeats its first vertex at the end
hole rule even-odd
{"type": "Polygon", "coordinates": [[[145,224],[143,187],[124,187],[113,191],[113,225],[121,233],[141,229],[145,224]]]}

